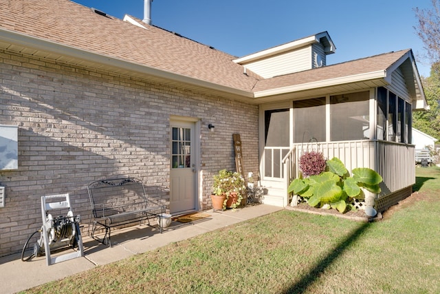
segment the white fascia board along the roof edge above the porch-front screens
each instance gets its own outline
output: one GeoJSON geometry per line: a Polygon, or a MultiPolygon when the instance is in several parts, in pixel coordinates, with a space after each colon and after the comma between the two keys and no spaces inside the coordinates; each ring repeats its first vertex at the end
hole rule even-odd
{"type": "Polygon", "coordinates": [[[290,92],[313,90],[321,87],[331,87],[335,85],[343,85],[343,84],[356,83],[361,81],[371,81],[380,78],[386,78],[386,70],[377,70],[376,72],[366,72],[364,74],[355,74],[353,76],[342,76],[340,78],[330,78],[328,80],[323,80],[323,81],[316,81],[316,82],[304,83],[300,85],[292,85],[287,87],[280,87],[270,90],[263,90],[259,92],[254,92],[254,96],[255,98],[261,98],[265,96],[287,94],[290,92]]]}

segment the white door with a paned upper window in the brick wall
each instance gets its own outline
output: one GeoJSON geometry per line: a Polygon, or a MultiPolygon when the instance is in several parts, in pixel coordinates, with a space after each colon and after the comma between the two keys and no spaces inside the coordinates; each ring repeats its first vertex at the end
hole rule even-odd
{"type": "Polygon", "coordinates": [[[170,213],[196,209],[195,123],[171,121],[170,213]]]}

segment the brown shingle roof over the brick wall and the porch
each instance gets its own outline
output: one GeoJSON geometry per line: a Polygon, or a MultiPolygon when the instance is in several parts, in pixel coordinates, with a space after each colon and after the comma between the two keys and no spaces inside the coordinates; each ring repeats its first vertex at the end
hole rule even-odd
{"type": "Polygon", "coordinates": [[[264,79],[249,70],[243,74],[243,67],[233,62],[236,56],[153,25],[145,27],[102,16],[69,0],[0,1],[0,31],[19,32],[249,93],[386,70],[408,52],[391,52],[264,79]]]}

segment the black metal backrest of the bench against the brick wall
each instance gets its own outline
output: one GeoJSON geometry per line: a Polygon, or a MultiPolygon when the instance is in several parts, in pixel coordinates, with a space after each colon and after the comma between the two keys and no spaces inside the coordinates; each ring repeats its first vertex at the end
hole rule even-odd
{"type": "Polygon", "coordinates": [[[144,185],[136,178],[98,180],[87,186],[95,218],[149,207],[144,185]]]}

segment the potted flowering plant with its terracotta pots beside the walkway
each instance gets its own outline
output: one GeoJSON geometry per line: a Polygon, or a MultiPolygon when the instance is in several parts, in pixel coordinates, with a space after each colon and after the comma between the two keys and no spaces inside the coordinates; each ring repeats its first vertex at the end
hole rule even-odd
{"type": "Polygon", "coordinates": [[[227,169],[221,169],[214,176],[214,184],[212,185],[212,207],[214,209],[226,209],[236,208],[241,204],[243,200],[243,193],[245,193],[245,180],[241,174],[237,172],[228,171],[227,169]],[[217,202],[217,198],[221,197],[223,202],[221,208],[215,206],[214,202],[217,202]]]}

